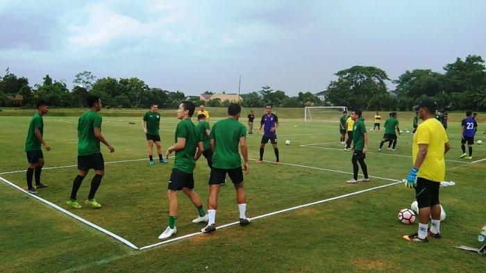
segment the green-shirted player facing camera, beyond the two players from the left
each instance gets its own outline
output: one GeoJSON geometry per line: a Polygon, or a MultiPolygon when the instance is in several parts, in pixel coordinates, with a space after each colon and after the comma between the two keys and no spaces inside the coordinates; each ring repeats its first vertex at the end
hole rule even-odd
{"type": "Polygon", "coordinates": [[[167,163],[167,160],[162,156],[162,147],[160,146],[160,135],[158,129],[160,126],[160,113],[158,113],[158,104],[155,102],[151,104],[150,111],[145,113],[142,129],[144,130],[147,143],[147,153],[149,154],[149,165],[153,166],[153,143],[156,144],[158,152],[158,161],[160,163],[167,163]]]}

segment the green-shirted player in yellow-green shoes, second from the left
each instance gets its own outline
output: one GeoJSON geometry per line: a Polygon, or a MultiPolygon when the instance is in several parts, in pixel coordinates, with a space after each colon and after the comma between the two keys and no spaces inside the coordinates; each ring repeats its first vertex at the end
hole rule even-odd
{"type": "Polygon", "coordinates": [[[101,99],[98,96],[89,95],[86,101],[90,110],[87,110],[78,119],[78,176],[73,181],[71,197],[66,203],[73,208],[81,208],[78,201],[76,201],[76,195],[87,172],[90,169],[94,169],[90,195],[87,196],[85,203],[92,208],[101,208],[101,205],[94,199],[99,184],[101,184],[101,179],[105,174],[105,161],[101,154],[99,142],[103,142],[110,150],[110,153],[114,152],[115,148],[101,135],[102,117],[98,113],[101,110],[101,99]]]}

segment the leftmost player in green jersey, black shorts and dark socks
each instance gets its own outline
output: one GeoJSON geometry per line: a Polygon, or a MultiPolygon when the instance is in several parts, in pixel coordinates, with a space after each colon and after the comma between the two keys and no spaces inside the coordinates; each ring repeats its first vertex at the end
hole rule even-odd
{"type": "Polygon", "coordinates": [[[44,146],[46,151],[51,147],[44,141],[44,120],[43,115],[49,113],[49,106],[43,100],[37,101],[37,113],[32,117],[31,124],[28,126],[27,138],[25,140],[25,151],[27,154],[27,191],[31,194],[37,194],[36,188],[45,188],[47,185],[40,183],[40,173],[44,166],[44,155],[40,145],[44,146]],[[35,188],[32,186],[32,178],[35,174],[35,188]]]}

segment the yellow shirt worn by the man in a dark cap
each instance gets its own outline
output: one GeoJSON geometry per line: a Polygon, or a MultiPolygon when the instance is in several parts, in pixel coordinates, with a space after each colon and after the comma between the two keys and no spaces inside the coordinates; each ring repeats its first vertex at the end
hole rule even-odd
{"type": "Polygon", "coordinates": [[[412,164],[419,154],[419,144],[428,144],[426,158],[420,166],[417,177],[431,181],[444,181],[446,161],[444,160],[444,144],[449,142],[444,126],[437,119],[431,118],[422,122],[413,136],[412,164]]]}

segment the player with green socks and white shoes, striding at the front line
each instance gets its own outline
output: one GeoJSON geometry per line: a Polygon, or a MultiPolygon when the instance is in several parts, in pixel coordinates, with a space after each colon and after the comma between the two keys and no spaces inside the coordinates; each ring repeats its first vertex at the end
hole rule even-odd
{"type": "Polygon", "coordinates": [[[167,148],[165,157],[169,157],[176,151],[174,158],[174,168],[167,185],[167,197],[169,198],[169,225],[162,234],[158,236],[160,240],[167,239],[176,234],[176,217],[178,211],[178,191],[182,190],[192,204],[196,206],[199,217],[192,220],[193,223],[208,222],[208,215],[204,211],[201,199],[194,189],[194,167],[196,158],[201,157],[203,152],[203,141],[196,126],[192,124],[191,117],[196,106],[191,101],[183,101],[177,110],[177,118],[181,122],[177,124],[174,135],[176,144],[167,148]]]}

